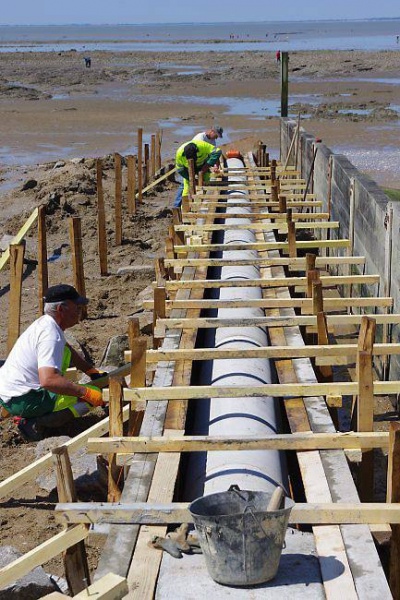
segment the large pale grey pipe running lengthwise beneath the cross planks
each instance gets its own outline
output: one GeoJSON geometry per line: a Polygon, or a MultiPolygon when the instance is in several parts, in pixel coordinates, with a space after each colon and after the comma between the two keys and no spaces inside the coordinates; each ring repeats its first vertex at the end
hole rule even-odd
{"type": "MultiPolygon", "coordinates": [[[[229,159],[228,166],[241,167],[238,159],[229,159]]],[[[235,183],[245,181],[244,177],[230,177],[232,189],[228,192],[226,212],[243,214],[237,218],[227,218],[225,223],[248,224],[251,222],[251,206],[243,191],[235,190],[235,183]],[[230,202],[243,202],[243,207],[229,207],[230,202]]],[[[224,243],[252,243],[255,234],[249,230],[227,230],[224,243]]],[[[232,266],[221,269],[221,279],[257,279],[259,268],[255,266],[236,266],[235,258],[256,258],[254,250],[223,253],[224,258],[233,261],[232,266]]],[[[261,287],[230,288],[220,290],[221,299],[261,298],[261,287]]],[[[245,318],[263,316],[260,308],[222,308],[218,317],[245,318]]],[[[268,345],[268,336],[260,327],[226,327],[216,330],[215,347],[247,349],[268,345]]],[[[212,367],[212,385],[262,385],[271,383],[271,365],[267,359],[215,360],[212,367]]],[[[270,397],[256,398],[214,398],[210,401],[209,435],[246,436],[271,435],[277,432],[277,402],[270,397]]],[[[209,452],[207,455],[206,480],[204,493],[212,494],[225,491],[231,484],[242,489],[271,491],[277,485],[287,487],[286,469],[282,467],[281,455],[275,451],[209,452]]]]}

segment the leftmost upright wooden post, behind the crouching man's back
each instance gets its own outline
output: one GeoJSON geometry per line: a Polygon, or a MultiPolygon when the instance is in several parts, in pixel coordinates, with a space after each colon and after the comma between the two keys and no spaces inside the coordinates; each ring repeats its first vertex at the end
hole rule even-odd
{"type": "Polygon", "coordinates": [[[7,354],[10,353],[20,332],[24,255],[25,244],[10,244],[10,305],[8,313],[7,354]]]}

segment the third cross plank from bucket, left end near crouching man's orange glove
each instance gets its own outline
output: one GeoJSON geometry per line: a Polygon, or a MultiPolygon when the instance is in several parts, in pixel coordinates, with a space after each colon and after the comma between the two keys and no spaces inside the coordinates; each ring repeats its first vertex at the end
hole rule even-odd
{"type": "MultiPolygon", "coordinates": [[[[400,381],[374,381],[374,395],[395,394],[400,388],[400,381]]],[[[358,392],[358,382],[335,381],[335,392],[341,395],[354,395],[358,392]]],[[[285,398],[290,396],[326,396],[332,393],[331,383],[269,383],[260,386],[180,386],[174,388],[133,388],[125,391],[125,400],[157,400],[206,399],[206,398],[251,398],[273,396],[285,398]]]]}

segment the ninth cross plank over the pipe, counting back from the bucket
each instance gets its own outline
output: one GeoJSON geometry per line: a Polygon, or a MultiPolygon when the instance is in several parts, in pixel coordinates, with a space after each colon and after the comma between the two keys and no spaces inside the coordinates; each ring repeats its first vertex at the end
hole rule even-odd
{"type": "MultiPolygon", "coordinates": [[[[297,247],[302,250],[312,248],[347,248],[349,240],[311,240],[297,242],[297,247]]],[[[188,246],[175,246],[177,254],[188,252],[188,246]]],[[[191,244],[191,252],[223,252],[224,250],[289,250],[287,242],[254,242],[253,244],[191,244]]]]}

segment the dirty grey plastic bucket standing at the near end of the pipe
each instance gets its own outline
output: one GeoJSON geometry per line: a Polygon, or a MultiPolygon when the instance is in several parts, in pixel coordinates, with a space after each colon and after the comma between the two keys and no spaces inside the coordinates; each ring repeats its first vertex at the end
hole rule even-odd
{"type": "Polygon", "coordinates": [[[190,506],[207,569],[225,585],[257,585],[275,577],[294,502],[268,511],[272,493],[239,490],[202,496],[190,506]]]}

